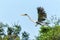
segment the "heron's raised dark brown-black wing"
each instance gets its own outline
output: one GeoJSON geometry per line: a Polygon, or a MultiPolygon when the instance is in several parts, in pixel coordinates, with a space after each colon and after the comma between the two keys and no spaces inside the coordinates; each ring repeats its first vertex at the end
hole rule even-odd
{"type": "Polygon", "coordinates": [[[47,14],[45,13],[42,7],[37,8],[38,11],[38,22],[42,22],[47,18],[47,14]]]}

